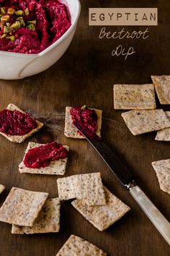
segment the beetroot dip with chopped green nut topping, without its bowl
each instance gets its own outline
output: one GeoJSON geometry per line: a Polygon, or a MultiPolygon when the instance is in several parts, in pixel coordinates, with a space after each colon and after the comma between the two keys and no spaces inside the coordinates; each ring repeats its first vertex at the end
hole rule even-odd
{"type": "Polygon", "coordinates": [[[1,0],[0,50],[38,54],[71,26],[68,9],[58,0],[1,0]]]}

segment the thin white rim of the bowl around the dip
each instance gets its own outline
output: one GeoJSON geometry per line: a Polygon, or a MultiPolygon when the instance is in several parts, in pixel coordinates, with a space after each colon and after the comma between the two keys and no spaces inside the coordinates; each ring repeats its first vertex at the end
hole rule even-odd
{"type": "Polygon", "coordinates": [[[79,16],[80,16],[80,12],[81,12],[81,4],[79,0],[76,0],[77,4],[78,4],[78,10],[76,13],[76,17],[73,20],[73,22],[71,23],[71,27],[68,28],[68,30],[66,31],[66,33],[64,33],[61,38],[59,38],[58,40],[56,40],[52,45],[48,46],[48,48],[46,48],[45,50],[41,51],[39,54],[21,54],[21,53],[15,53],[12,51],[0,51],[0,55],[6,55],[6,56],[25,56],[25,57],[35,57],[35,56],[43,56],[45,54],[47,54],[49,51],[51,51],[53,48],[55,48],[56,46],[58,46],[74,29],[74,27],[76,26],[78,20],[79,20],[79,16]]]}

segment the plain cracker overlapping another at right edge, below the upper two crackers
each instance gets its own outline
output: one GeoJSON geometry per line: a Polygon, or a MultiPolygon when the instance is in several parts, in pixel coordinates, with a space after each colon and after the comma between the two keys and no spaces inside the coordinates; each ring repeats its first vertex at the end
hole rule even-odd
{"type": "Polygon", "coordinates": [[[162,109],[132,110],[122,113],[122,118],[133,135],[170,127],[170,121],[162,109]]]}

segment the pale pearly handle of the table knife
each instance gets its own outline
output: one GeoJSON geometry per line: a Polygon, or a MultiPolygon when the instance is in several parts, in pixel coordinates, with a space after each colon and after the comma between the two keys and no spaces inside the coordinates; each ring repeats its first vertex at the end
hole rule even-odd
{"type": "Polygon", "coordinates": [[[130,195],[133,196],[138,205],[146,213],[146,216],[150,219],[153,225],[158,229],[161,235],[164,237],[166,242],[170,245],[170,223],[166,218],[160,213],[160,211],[153,205],[153,202],[148,199],[146,194],[140,189],[140,187],[135,186],[129,189],[130,195]]]}

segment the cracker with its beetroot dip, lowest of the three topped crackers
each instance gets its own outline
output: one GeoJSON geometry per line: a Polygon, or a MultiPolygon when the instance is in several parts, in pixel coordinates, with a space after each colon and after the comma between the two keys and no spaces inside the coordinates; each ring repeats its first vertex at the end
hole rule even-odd
{"type": "MultiPolygon", "coordinates": [[[[63,156],[61,155],[61,158],[58,159],[49,159],[48,158],[48,154],[51,155],[51,151],[55,150],[55,147],[53,148],[47,148],[48,145],[52,145],[52,143],[56,143],[56,145],[59,145],[57,142],[51,142],[48,143],[47,145],[45,144],[39,144],[39,143],[35,143],[35,142],[29,142],[27,145],[27,149],[25,150],[25,154],[24,154],[24,159],[22,161],[22,163],[19,164],[19,172],[21,174],[23,173],[27,173],[27,174],[50,174],[50,175],[64,175],[66,172],[66,163],[68,160],[67,154],[68,154],[68,146],[63,146],[63,145],[59,145],[61,146],[61,150],[63,148],[63,150],[65,153],[63,156]],[[46,148],[45,148],[46,147],[46,148]],[[30,150],[35,149],[36,151],[33,151],[27,158],[27,153],[30,153],[30,150]],[[49,151],[47,151],[49,150],[49,151]],[[35,155],[37,154],[37,155],[35,155]],[[32,165],[28,165],[27,166],[27,162],[25,163],[25,160],[28,159],[28,161],[30,161],[30,158],[32,158],[32,156],[34,157],[34,159],[32,160],[32,165]],[[65,157],[66,156],[66,157],[65,157]],[[48,161],[48,163],[46,163],[45,161],[48,161]]],[[[55,158],[55,155],[57,155],[58,151],[56,148],[56,152],[53,155],[53,158],[55,158]]]]}

